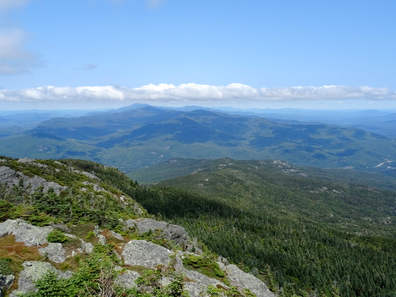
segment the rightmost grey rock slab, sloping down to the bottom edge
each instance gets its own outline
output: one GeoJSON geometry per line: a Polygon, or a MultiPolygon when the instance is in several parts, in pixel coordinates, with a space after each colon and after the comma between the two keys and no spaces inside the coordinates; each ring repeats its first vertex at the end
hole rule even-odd
{"type": "Polygon", "coordinates": [[[257,297],[275,297],[275,295],[268,290],[267,286],[254,275],[242,271],[233,264],[227,265],[226,271],[231,285],[238,288],[240,291],[249,289],[257,297]]]}

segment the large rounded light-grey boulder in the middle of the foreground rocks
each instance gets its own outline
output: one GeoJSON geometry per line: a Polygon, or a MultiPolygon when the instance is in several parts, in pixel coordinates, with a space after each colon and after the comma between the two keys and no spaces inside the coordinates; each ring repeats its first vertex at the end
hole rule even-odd
{"type": "Polygon", "coordinates": [[[124,263],[155,268],[158,264],[168,266],[172,252],[145,240],[131,240],[122,251],[124,263]]]}

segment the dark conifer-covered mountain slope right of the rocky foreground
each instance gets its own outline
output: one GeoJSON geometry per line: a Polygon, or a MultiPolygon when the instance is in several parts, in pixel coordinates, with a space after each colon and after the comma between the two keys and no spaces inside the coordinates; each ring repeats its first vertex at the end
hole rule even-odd
{"type": "Polygon", "coordinates": [[[289,293],[331,295],[337,284],[340,296],[393,296],[394,191],[309,178],[276,160],[200,165],[137,200],[289,293]]]}

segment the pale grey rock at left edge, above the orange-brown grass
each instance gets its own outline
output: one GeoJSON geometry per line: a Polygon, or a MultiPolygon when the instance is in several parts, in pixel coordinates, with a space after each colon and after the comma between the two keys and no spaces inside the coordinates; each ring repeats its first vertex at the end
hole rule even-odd
{"type": "Polygon", "coordinates": [[[48,243],[47,236],[52,229],[49,226],[33,226],[22,219],[9,219],[0,223],[0,237],[13,234],[16,242],[23,242],[27,247],[33,247],[48,243]]]}

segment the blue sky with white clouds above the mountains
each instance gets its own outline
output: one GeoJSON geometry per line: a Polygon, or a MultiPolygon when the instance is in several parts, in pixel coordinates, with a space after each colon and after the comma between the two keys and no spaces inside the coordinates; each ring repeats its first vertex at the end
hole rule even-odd
{"type": "Polygon", "coordinates": [[[0,108],[396,108],[395,0],[0,0],[0,108]]]}

